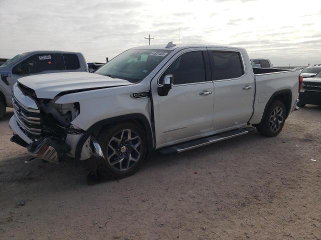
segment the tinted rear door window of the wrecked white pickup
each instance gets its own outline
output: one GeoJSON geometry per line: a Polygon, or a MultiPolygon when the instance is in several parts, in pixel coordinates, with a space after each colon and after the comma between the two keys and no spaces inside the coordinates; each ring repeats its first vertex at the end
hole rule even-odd
{"type": "Polygon", "coordinates": [[[244,74],[241,55],[235,51],[211,51],[212,79],[237,78],[244,74]]]}

